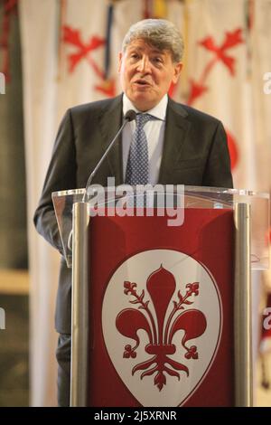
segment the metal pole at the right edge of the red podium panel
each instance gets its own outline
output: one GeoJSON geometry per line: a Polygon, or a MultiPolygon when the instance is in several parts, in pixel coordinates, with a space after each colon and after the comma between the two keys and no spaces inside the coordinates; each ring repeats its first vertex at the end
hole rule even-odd
{"type": "Polygon", "coordinates": [[[251,341],[250,205],[235,206],[235,405],[253,405],[251,341]]]}

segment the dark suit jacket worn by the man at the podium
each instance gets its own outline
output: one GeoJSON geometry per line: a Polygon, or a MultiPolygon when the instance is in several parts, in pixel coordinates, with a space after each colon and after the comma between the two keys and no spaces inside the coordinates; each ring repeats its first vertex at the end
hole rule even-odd
{"type": "MultiPolygon", "coordinates": [[[[34,215],[37,230],[61,254],[51,192],[85,187],[121,123],[122,96],[69,109],[62,119],[34,215]]],[[[106,186],[107,176],[124,183],[121,139],[92,183],[106,186]]],[[[227,139],[219,120],[169,99],[158,183],[232,187],[227,139]]],[[[55,323],[64,334],[70,333],[70,292],[70,269],[62,258],[55,323]]]]}

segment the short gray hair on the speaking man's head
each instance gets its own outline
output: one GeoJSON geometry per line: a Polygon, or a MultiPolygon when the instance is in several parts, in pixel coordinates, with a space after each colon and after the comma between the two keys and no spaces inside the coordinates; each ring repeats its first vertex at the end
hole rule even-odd
{"type": "Polygon", "coordinates": [[[184,49],[182,34],[176,26],[165,19],[144,19],[133,24],[122,42],[122,52],[135,40],[142,39],[158,50],[172,53],[174,62],[182,61],[184,49]]]}

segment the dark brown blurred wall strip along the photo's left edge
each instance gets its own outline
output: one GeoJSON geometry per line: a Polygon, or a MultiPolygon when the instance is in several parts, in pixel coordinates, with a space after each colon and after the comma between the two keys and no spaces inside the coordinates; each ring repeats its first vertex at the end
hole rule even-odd
{"type": "Polygon", "coordinates": [[[19,16],[0,2],[0,406],[29,404],[28,251],[19,16]]]}

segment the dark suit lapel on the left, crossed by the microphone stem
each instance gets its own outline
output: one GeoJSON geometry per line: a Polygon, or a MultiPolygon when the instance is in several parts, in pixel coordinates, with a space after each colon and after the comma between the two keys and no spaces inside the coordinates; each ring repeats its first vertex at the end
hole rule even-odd
{"type": "MultiPolygon", "coordinates": [[[[102,135],[103,151],[116,136],[119,127],[122,124],[122,95],[112,100],[107,109],[103,109],[99,117],[100,131],[102,135]]],[[[110,176],[115,176],[115,183],[121,184],[123,181],[122,170],[122,149],[121,135],[116,140],[115,145],[108,153],[106,161],[110,168],[110,176]]]]}

